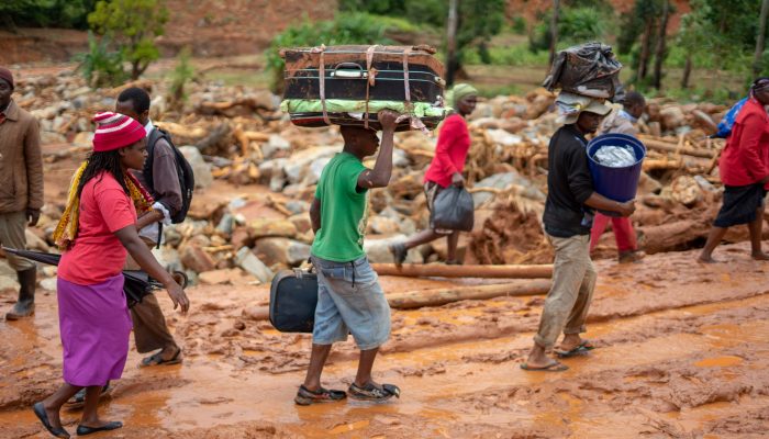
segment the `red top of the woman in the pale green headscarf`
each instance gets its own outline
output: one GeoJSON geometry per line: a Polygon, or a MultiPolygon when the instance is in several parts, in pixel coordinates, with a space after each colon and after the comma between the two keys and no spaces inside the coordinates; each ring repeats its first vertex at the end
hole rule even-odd
{"type": "Polygon", "coordinates": [[[465,169],[467,151],[470,150],[470,132],[465,119],[459,114],[446,117],[441,126],[438,144],[435,146],[435,157],[424,175],[424,181],[433,181],[447,188],[452,184],[452,176],[465,169]]]}

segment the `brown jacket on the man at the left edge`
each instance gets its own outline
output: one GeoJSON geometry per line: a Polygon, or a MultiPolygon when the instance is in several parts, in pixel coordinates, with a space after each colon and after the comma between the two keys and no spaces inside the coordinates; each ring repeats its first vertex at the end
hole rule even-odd
{"type": "Polygon", "coordinates": [[[0,124],[0,213],[43,207],[40,127],[32,114],[11,101],[0,124]]]}

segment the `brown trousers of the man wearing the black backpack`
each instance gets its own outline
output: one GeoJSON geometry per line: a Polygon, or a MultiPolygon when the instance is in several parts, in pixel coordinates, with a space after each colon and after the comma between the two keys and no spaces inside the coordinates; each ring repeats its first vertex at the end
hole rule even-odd
{"type": "MultiPolygon", "coordinates": [[[[148,248],[154,243],[144,240],[148,248]]],[[[125,260],[126,270],[140,270],[138,263],[129,255],[125,260]]],[[[141,303],[131,308],[131,318],[134,323],[134,340],[140,353],[151,352],[170,346],[177,346],[174,336],[168,330],[166,317],[163,315],[160,304],[155,294],[147,294],[141,303]]]]}

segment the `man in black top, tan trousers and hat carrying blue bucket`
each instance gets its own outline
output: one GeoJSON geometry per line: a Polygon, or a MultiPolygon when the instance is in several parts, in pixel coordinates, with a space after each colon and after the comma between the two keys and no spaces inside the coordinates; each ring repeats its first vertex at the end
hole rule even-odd
{"type": "Polygon", "coordinates": [[[547,201],[543,223],[555,248],[550,288],[539,320],[539,329],[521,369],[558,372],[568,368],[546,352],[560,333],[564,339],[555,352],[561,357],[584,353],[593,346],[580,337],[595,286],[597,273],[590,260],[590,228],[593,210],[629,216],[635,201],[612,201],[595,192],[588,166],[586,135],[595,133],[611,108],[601,100],[561,92],[556,100],[560,113],[558,128],[548,146],[547,201]]]}

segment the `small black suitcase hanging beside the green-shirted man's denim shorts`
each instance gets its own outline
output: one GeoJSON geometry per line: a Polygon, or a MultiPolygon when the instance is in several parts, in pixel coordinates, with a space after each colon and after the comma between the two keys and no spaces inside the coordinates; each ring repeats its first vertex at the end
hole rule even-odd
{"type": "Polygon", "coordinates": [[[303,270],[282,270],[272,278],[269,320],[281,333],[310,333],[317,306],[317,275],[303,270]]]}

